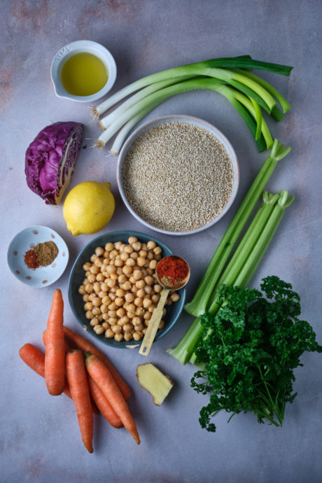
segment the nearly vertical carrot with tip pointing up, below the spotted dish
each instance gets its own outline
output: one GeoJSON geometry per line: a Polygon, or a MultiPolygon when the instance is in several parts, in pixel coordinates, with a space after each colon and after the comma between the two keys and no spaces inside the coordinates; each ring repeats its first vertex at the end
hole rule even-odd
{"type": "Polygon", "coordinates": [[[47,345],[45,348],[45,381],[51,395],[64,391],[65,346],[63,330],[64,301],[62,291],[57,288],[47,321],[47,345]]]}

